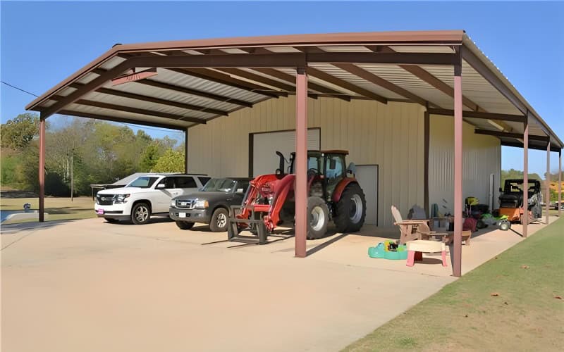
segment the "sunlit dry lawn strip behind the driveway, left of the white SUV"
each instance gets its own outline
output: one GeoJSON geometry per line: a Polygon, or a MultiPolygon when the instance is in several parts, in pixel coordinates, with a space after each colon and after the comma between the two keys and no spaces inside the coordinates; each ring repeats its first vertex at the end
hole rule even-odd
{"type": "MultiPolygon", "coordinates": [[[[22,210],[23,204],[30,203],[32,209],[39,209],[39,199],[37,198],[2,198],[0,199],[1,210],[22,210]]],[[[96,218],[94,213],[94,201],[90,197],[46,197],[45,198],[46,221],[53,220],[76,220],[86,218],[96,218]]],[[[16,224],[18,222],[32,222],[36,220],[6,220],[2,225],[16,224]]]]}

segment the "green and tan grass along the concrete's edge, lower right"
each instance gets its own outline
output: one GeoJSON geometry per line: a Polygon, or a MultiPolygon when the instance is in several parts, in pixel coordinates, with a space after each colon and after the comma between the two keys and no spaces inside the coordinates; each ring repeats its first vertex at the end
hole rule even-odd
{"type": "Polygon", "coordinates": [[[558,219],[345,351],[562,351],[563,268],[558,219]]]}

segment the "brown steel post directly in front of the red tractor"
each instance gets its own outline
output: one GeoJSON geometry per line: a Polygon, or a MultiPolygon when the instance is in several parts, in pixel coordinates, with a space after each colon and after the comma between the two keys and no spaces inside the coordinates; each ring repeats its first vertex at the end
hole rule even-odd
{"type": "Polygon", "coordinates": [[[295,78],[295,256],[305,258],[307,234],[307,74],[295,78]]]}

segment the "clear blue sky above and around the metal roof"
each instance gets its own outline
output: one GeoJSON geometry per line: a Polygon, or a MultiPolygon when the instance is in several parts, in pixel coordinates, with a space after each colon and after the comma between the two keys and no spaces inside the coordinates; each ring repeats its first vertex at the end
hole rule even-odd
{"type": "MultiPolygon", "coordinates": [[[[563,2],[1,1],[1,80],[42,94],[116,43],[384,30],[466,30],[564,139],[563,2]]],[[[0,120],[33,97],[1,84],[0,120]]],[[[166,132],[147,130],[154,137],[166,132]]],[[[181,134],[171,134],[180,139],[181,134]]],[[[558,156],[553,153],[551,170],[558,156]]],[[[522,169],[503,147],[502,168],[522,169]]],[[[543,175],[546,153],[531,151],[543,175]]]]}

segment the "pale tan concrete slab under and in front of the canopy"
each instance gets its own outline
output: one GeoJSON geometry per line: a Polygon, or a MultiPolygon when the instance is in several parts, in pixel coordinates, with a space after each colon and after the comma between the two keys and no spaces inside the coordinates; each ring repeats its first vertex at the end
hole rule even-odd
{"type": "MultiPolygon", "coordinates": [[[[368,246],[394,231],[367,226],[308,241],[310,255],[299,259],[291,237],[239,246],[225,233],[168,221],[6,225],[1,347],[338,351],[455,279],[432,258],[412,268],[369,258],[368,246]]],[[[480,234],[463,246],[463,272],[521,240],[480,234]]]]}

